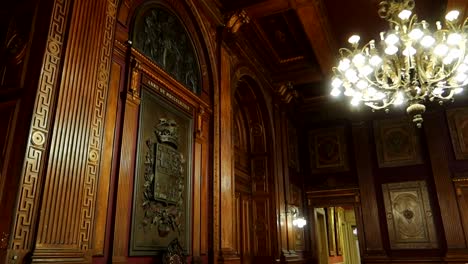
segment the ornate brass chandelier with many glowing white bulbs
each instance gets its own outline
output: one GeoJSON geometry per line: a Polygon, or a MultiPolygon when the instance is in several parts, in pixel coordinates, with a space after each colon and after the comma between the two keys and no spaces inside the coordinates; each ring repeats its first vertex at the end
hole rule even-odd
{"type": "Polygon", "coordinates": [[[373,110],[406,105],[413,122],[421,127],[424,102],[453,101],[468,84],[468,18],[459,23],[459,12],[450,11],[435,29],[412,14],[414,0],[387,0],[378,14],[390,29],[359,47],[359,36],[349,38],[352,48],[340,49],[333,67],[332,96],[344,93],[354,106],[373,110]]]}

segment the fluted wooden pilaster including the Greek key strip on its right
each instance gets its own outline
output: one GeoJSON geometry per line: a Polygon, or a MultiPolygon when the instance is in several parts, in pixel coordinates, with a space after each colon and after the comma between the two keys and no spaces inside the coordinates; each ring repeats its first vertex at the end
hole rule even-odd
{"type": "Polygon", "coordinates": [[[70,31],[81,34],[70,35],[65,54],[34,257],[92,246],[115,11],[112,0],[74,6],[70,31]],[[89,38],[82,21],[96,15],[89,38]]]}

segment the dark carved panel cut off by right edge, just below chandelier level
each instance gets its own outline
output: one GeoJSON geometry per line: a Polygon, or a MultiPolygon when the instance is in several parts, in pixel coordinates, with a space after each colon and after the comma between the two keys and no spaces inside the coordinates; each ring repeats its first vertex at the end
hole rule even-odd
{"type": "Polygon", "coordinates": [[[455,157],[468,159],[468,108],[447,110],[447,121],[455,157]]]}

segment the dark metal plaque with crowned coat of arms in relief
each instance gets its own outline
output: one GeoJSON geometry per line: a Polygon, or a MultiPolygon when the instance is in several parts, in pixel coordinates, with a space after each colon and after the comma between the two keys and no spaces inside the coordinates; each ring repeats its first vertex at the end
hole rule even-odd
{"type": "Polygon", "coordinates": [[[160,254],[174,240],[187,251],[192,119],[145,88],[141,99],[130,254],[160,254]]]}

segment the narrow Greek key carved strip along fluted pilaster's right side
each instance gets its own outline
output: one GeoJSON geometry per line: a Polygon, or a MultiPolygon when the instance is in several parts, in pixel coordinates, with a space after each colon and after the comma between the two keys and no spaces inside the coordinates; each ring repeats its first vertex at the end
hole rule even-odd
{"type": "Polygon", "coordinates": [[[108,92],[108,81],[111,64],[113,44],[113,28],[117,13],[117,0],[107,1],[106,25],[100,53],[100,62],[97,75],[97,88],[95,90],[95,108],[93,111],[91,133],[88,146],[88,160],[84,182],[84,196],[81,206],[80,219],[80,247],[88,250],[91,243],[91,231],[94,219],[94,202],[97,188],[98,171],[100,163],[102,132],[104,127],[105,98],[108,92]]]}

